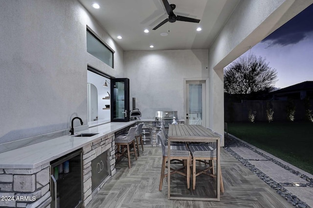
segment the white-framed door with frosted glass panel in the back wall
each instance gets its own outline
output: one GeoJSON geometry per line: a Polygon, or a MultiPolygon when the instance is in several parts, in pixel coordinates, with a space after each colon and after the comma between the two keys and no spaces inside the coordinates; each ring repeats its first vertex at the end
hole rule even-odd
{"type": "Polygon", "coordinates": [[[186,124],[205,126],[205,81],[186,81],[185,97],[186,124]]]}

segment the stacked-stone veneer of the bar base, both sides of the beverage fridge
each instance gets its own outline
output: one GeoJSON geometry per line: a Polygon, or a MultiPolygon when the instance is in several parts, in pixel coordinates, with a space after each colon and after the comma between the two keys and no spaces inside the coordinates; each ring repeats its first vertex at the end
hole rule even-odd
{"type": "MultiPolygon", "coordinates": [[[[115,134],[111,133],[83,147],[84,207],[92,199],[91,161],[101,153],[109,151],[110,175],[113,176],[116,172],[114,138],[115,134]]],[[[103,186],[103,183],[100,186],[103,186]]],[[[49,189],[50,163],[33,169],[0,169],[0,207],[50,208],[52,200],[49,189]]]]}

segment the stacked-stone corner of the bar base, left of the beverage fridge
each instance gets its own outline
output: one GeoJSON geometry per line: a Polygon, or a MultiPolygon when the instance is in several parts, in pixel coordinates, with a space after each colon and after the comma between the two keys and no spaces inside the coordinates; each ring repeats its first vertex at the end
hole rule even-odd
{"type": "Polygon", "coordinates": [[[49,183],[50,163],[33,169],[0,169],[0,207],[50,207],[49,183]]]}

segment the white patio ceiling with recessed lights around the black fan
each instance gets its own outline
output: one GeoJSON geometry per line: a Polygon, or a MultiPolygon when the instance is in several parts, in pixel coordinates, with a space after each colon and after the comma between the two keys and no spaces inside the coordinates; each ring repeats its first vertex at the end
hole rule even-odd
{"type": "Polygon", "coordinates": [[[207,49],[218,35],[239,0],[168,0],[176,4],[174,13],[200,19],[200,23],[176,21],[168,18],[162,0],[98,0],[100,9],[94,9],[94,0],[80,0],[91,15],[125,51],[207,49]],[[200,32],[196,31],[201,27],[200,32]],[[148,29],[149,33],[143,30],[148,29]],[[170,30],[170,32],[168,32],[170,30]],[[167,32],[168,36],[161,36],[167,32]],[[123,39],[116,37],[120,35],[123,39]],[[154,45],[151,49],[149,46],[154,45]]]}

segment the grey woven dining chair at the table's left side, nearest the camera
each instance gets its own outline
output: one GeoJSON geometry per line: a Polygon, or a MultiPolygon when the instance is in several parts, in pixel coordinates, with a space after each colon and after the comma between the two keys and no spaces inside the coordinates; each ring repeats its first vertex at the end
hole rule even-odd
{"type": "MultiPolygon", "coordinates": [[[[165,136],[162,131],[159,131],[157,134],[157,139],[161,141],[161,146],[162,146],[162,167],[161,167],[161,176],[160,176],[160,184],[159,184],[159,191],[162,190],[162,185],[163,185],[163,179],[168,176],[168,174],[165,174],[165,168],[166,162],[168,162],[168,146],[167,143],[165,142],[165,136]],[[166,144],[165,144],[166,143],[166,144]]],[[[170,146],[170,157],[171,160],[186,160],[187,161],[187,166],[183,166],[182,168],[179,169],[174,169],[171,167],[171,175],[174,173],[178,173],[180,175],[186,176],[187,180],[187,188],[190,188],[190,151],[186,145],[171,145],[170,146]],[[181,172],[181,169],[186,169],[186,173],[181,172]]]]}

